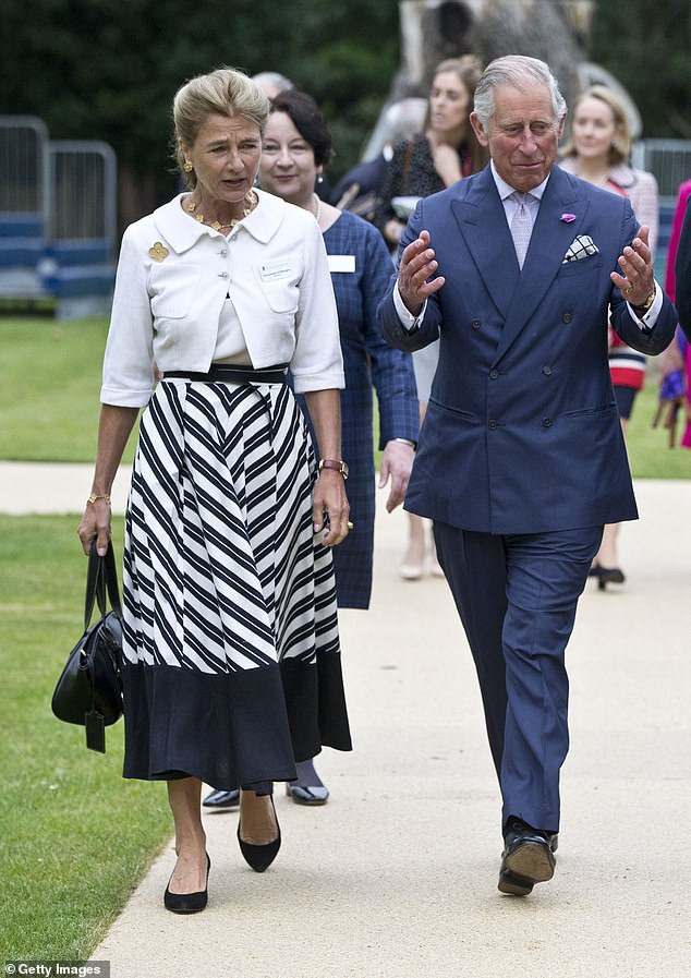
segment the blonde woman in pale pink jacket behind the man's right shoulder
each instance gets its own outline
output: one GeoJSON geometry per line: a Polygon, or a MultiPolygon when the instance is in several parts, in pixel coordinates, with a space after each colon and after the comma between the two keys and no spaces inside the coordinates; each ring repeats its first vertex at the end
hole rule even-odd
{"type": "MultiPolygon", "coordinates": [[[[640,225],[650,228],[648,245],[653,254],[659,221],[657,183],[652,173],[629,166],[631,136],[625,107],[604,85],[593,85],[579,95],[573,107],[571,138],[563,147],[560,166],[589,183],[629,197],[640,225]]],[[[626,435],[633,402],[645,379],[645,355],[621,342],[609,327],[609,371],[617,399],[621,427],[626,435]]],[[[621,584],[617,542],[619,523],[605,527],[599,552],[591,576],[605,590],[608,583],[621,584]]]]}

